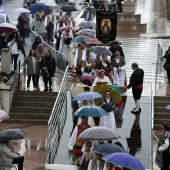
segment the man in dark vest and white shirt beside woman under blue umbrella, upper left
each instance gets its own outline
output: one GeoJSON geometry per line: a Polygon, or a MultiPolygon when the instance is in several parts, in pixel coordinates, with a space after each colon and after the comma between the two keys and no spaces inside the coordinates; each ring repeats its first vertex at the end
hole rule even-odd
{"type": "Polygon", "coordinates": [[[52,9],[49,10],[47,15],[47,34],[48,34],[48,43],[53,42],[53,31],[54,31],[54,15],[52,9]]]}

